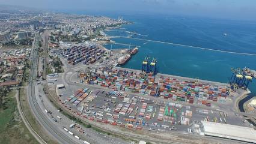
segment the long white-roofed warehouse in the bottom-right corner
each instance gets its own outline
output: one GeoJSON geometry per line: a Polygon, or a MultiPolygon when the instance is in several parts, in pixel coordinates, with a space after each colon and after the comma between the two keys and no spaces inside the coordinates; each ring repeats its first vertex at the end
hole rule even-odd
{"type": "Polygon", "coordinates": [[[201,121],[205,136],[222,137],[242,142],[256,143],[256,130],[250,127],[201,121]]]}

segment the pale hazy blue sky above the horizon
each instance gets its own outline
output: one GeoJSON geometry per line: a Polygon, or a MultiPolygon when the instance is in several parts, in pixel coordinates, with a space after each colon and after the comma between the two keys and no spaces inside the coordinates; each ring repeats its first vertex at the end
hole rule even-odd
{"type": "Polygon", "coordinates": [[[66,12],[114,11],[256,20],[256,0],[0,0],[0,4],[66,12]]]}

